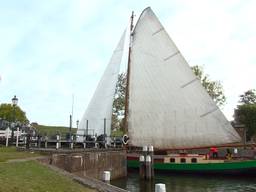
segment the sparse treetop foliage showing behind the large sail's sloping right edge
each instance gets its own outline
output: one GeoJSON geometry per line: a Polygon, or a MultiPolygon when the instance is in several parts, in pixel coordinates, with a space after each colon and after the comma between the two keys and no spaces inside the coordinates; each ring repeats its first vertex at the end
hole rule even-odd
{"type": "Polygon", "coordinates": [[[206,89],[210,97],[218,106],[223,106],[226,102],[223,86],[219,81],[212,81],[207,74],[204,74],[201,66],[195,65],[191,67],[194,74],[200,79],[203,87],[206,89]]]}

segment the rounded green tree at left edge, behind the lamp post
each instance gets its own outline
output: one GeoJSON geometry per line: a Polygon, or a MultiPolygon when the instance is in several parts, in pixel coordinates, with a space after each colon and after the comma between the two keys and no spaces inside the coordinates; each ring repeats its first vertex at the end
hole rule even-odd
{"type": "Polygon", "coordinates": [[[25,124],[29,122],[26,117],[26,113],[22,111],[19,106],[13,106],[5,103],[0,105],[0,118],[9,122],[19,121],[25,124]]]}

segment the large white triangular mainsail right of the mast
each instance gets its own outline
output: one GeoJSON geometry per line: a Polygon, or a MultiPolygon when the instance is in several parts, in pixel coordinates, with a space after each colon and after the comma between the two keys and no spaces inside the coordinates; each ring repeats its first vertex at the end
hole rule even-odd
{"type": "Polygon", "coordinates": [[[240,140],[150,8],[133,31],[128,134],[131,145],[156,148],[240,140]]]}

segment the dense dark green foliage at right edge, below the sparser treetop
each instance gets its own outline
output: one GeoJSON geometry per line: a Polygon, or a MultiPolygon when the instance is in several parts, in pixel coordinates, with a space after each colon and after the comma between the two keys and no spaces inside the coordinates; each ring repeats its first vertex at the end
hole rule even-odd
{"type": "Polygon", "coordinates": [[[235,113],[235,121],[245,125],[248,140],[256,135],[256,104],[239,105],[235,113]]]}

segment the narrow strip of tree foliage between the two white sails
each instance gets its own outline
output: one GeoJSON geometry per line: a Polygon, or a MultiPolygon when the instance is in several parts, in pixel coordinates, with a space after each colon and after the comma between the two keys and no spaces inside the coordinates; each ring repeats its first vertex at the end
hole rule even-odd
{"type": "Polygon", "coordinates": [[[112,113],[112,129],[122,129],[124,125],[125,111],[125,92],[126,92],[126,74],[118,75],[118,81],[115,90],[112,113]]]}

